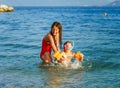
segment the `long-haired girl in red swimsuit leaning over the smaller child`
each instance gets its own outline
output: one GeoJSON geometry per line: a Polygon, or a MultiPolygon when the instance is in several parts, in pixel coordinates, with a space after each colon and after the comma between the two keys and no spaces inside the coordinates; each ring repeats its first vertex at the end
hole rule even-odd
{"type": "Polygon", "coordinates": [[[40,58],[45,63],[52,62],[51,51],[60,51],[59,45],[62,44],[62,25],[59,22],[54,22],[51,26],[51,31],[44,36],[42,40],[42,49],[40,58]]]}

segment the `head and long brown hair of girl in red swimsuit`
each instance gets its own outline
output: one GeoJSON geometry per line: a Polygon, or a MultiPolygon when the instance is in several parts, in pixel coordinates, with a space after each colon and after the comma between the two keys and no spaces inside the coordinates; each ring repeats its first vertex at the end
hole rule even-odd
{"type": "Polygon", "coordinates": [[[58,34],[59,42],[60,42],[60,44],[62,44],[62,25],[61,25],[61,23],[59,23],[57,21],[53,22],[50,33],[53,37],[58,34]]]}

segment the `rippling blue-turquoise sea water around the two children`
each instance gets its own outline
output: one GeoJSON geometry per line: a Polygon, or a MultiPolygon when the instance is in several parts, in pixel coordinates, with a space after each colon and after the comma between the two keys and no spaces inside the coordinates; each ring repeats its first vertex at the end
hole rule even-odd
{"type": "Polygon", "coordinates": [[[0,13],[1,88],[120,88],[120,7],[15,7],[0,13]],[[104,12],[107,16],[103,16],[104,12]],[[84,53],[82,68],[43,66],[41,40],[51,24],[84,53]]]}

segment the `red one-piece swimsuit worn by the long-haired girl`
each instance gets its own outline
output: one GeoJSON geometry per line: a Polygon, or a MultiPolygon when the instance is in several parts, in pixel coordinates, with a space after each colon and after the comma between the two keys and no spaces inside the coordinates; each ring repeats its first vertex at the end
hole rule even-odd
{"type": "Polygon", "coordinates": [[[42,55],[44,55],[45,52],[49,52],[51,54],[51,45],[45,40],[42,40],[42,50],[40,53],[40,58],[42,57],[42,55]]]}

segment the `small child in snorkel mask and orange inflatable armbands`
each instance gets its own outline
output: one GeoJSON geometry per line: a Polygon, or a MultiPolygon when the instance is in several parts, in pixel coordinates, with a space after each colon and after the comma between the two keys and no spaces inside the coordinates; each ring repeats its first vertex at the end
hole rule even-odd
{"type": "Polygon", "coordinates": [[[73,42],[66,41],[63,46],[64,50],[56,55],[54,54],[54,58],[56,58],[56,60],[60,62],[64,67],[68,67],[71,65],[72,58],[76,58],[79,61],[82,61],[83,54],[80,52],[77,53],[72,52],[73,47],[74,47],[73,42]]]}

